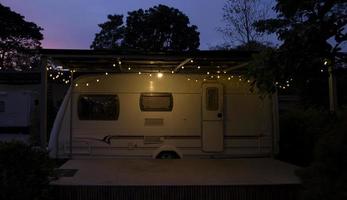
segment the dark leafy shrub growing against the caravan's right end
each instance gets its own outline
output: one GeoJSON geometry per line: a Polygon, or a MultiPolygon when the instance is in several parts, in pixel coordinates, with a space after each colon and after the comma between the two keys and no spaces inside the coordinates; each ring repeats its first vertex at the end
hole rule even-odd
{"type": "Polygon", "coordinates": [[[280,113],[279,159],[299,166],[313,161],[318,139],[331,128],[330,114],[320,108],[291,108],[280,113]]]}

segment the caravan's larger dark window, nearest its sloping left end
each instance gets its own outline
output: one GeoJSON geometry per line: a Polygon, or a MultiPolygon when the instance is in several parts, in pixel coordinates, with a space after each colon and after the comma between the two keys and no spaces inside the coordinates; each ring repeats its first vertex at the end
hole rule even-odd
{"type": "Polygon", "coordinates": [[[117,120],[118,115],[117,95],[81,95],[78,99],[80,120],[117,120]]]}

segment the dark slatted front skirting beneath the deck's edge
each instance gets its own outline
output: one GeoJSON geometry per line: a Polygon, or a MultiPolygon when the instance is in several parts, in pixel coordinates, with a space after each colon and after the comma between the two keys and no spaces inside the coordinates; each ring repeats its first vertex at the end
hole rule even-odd
{"type": "Polygon", "coordinates": [[[299,185],[52,186],[56,200],[294,200],[299,185]]]}

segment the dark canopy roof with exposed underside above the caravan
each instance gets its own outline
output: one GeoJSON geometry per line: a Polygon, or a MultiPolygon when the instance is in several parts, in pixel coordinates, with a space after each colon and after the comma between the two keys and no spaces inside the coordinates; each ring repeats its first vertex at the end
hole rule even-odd
{"type": "Polygon", "coordinates": [[[216,73],[244,67],[254,51],[143,52],[125,50],[62,50],[40,49],[59,68],[81,73],[112,72],[176,72],[216,73]]]}

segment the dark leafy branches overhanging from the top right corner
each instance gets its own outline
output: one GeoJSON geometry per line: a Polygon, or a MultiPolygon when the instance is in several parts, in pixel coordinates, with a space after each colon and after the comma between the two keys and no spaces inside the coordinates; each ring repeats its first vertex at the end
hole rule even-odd
{"type": "Polygon", "coordinates": [[[277,0],[277,18],[256,25],[259,31],[276,33],[283,43],[255,59],[253,84],[268,92],[274,92],[276,82],[289,79],[304,86],[321,69],[327,70],[325,61],[335,65],[347,40],[346,8],[343,0],[277,0]]]}

